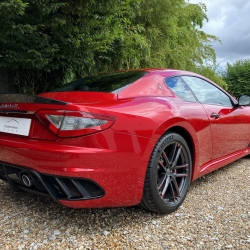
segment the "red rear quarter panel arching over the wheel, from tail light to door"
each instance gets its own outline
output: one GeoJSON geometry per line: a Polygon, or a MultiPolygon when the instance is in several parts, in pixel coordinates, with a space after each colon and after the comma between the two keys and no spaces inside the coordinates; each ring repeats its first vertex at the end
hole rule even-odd
{"type": "MultiPolygon", "coordinates": [[[[156,143],[171,128],[186,130],[193,147],[193,179],[200,166],[211,160],[212,139],[210,122],[203,106],[184,102],[175,97],[139,97],[115,103],[79,106],[82,111],[102,113],[116,117],[112,129],[136,138],[149,138],[156,143]]],[[[150,149],[152,152],[152,148],[150,149]]],[[[150,154],[147,155],[147,161],[150,154]]]]}

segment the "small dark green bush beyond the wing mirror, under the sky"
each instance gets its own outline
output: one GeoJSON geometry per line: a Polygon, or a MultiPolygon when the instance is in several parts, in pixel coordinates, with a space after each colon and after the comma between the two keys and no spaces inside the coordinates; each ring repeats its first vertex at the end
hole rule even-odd
{"type": "Polygon", "coordinates": [[[250,60],[227,63],[224,80],[227,82],[229,93],[233,96],[242,94],[250,96],[250,60]]]}

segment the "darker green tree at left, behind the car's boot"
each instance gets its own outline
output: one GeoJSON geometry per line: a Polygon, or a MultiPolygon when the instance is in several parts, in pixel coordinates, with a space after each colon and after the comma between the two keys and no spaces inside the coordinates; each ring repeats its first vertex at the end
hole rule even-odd
{"type": "Polygon", "coordinates": [[[124,8],[120,2],[1,1],[0,66],[14,70],[19,91],[33,94],[60,85],[71,72],[93,72],[94,55],[117,37],[132,0],[123,0],[124,8]]]}

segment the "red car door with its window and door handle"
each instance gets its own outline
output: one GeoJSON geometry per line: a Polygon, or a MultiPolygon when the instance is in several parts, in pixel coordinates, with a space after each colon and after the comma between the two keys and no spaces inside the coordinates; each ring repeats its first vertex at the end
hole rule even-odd
{"type": "Polygon", "coordinates": [[[212,158],[242,150],[249,143],[249,115],[244,107],[233,105],[231,98],[212,83],[194,76],[182,76],[210,119],[212,158]]]}

